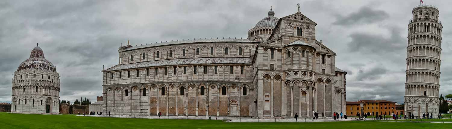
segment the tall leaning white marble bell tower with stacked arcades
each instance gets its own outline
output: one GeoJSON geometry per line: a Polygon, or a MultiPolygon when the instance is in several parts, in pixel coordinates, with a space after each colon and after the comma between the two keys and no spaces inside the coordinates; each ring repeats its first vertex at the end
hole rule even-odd
{"type": "Polygon", "coordinates": [[[405,114],[438,115],[441,32],[438,8],[418,5],[408,24],[406,58],[405,114]]]}

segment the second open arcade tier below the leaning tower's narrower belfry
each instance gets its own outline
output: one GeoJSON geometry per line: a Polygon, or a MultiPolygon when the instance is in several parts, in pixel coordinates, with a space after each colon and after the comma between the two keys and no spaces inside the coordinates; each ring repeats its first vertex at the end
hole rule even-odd
{"type": "Polygon", "coordinates": [[[412,35],[408,36],[408,45],[412,44],[433,44],[441,47],[442,38],[433,35],[412,35]]]}

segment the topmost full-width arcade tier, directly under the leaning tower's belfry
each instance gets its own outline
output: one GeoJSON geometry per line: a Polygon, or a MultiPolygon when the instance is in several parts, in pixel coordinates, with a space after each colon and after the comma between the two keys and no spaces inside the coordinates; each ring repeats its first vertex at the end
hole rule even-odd
{"type": "Polygon", "coordinates": [[[442,26],[438,24],[428,23],[428,22],[417,22],[414,24],[411,24],[409,27],[409,34],[416,33],[416,32],[430,32],[437,34],[438,36],[441,36],[442,32],[442,26]],[[432,29],[433,27],[433,29],[432,29]]]}

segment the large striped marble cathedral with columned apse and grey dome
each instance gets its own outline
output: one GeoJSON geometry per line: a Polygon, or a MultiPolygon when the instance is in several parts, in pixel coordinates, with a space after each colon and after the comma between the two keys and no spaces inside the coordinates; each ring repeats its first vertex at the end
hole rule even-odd
{"type": "Polygon", "coordinates": [[[103,112],[259,118],[345,112],[347,72],[315,39],[316,25],[298,6],[282,18],[270,9],[247,39],[127,42],[118,64],[102,71],[103,112]]]}

